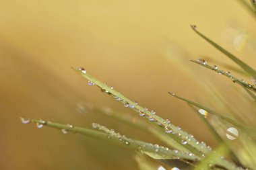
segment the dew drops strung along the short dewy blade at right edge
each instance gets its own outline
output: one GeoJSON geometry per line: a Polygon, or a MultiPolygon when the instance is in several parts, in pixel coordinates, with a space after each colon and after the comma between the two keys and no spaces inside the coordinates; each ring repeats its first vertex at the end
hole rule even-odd
{"type": "MultiPolygon", "coordinates": [[[[199,59],[197,59],[197,60],[195,60],[197,63],[199,63],[199,64],[201,64],[201,65],[206,65],[207,64],[207,62],[206,62],[206,60],[204,60],[204,59],[202,59],[202,58],[199,58],[199,59]]],[[[236,81],[237,81],[237,79],[234,79],[234,77],[231,75],[231,73],[230,73],[230,71],[226,71],[226,73],[224,72],[224,71],[222,71],[222,70],[220,70],[220,69],[218,69],[218,67],[216,66],[216,65],[214,65],[213,67],[212,67],[212,70],[213,71],[216,71],[219,75],[226,75],[228,78],[230,78],[230,79],[233,79],[233,82],[234,83],[236,83],[236,81]]],[[[251,77],[251,83],[253,83],[253,85],[251,85],[250,83],[247,83],[244,79],[241,79],[240,81],[241,81],[241,83],[243,83],[243,85],[245,85],[245,86],[247,86],[247,87],[249,87],[249,88],[253,88],[253,89],[255,89],[256,87],[255,87],[255,85],[256,85],[256,80],[255,80],[255,78],[254,77],[251,77]]]]}

